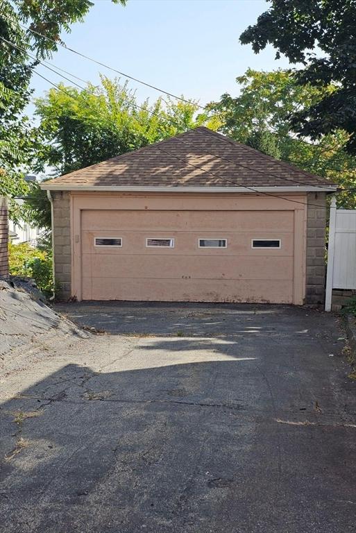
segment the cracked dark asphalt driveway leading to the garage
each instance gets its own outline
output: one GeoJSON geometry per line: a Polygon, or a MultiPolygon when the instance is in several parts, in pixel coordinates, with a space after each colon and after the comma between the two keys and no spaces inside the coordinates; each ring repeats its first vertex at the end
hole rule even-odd
{"type": "Polygon", "coordinates": [[[1,533],[355,532],[356,382],[335,316],[56,310],[86,337],[23,349],[1,383],[1,533]]]}

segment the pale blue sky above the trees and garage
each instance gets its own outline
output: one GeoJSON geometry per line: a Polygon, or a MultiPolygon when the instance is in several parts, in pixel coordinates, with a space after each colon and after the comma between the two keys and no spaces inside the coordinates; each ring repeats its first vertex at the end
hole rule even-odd
{"type": "MultiPolygon", "coordinates": [[[[205,104],[224,92],[237,94],[235,78],[248,67],[288,66],[287,60],[274,59],[271,46],[255,55],[251,46],[239,44],[240,33],[268,6],[264,0],[128,0],[123,8],[96,0],[85,22],[74,24],[62,39],[130,76],[205,104]]],[[[115,76],[65,49],[59,49],[51,62],[92,83],[98,83],[99,72],[115,76]]],[[[41,65],[37,71],[55,83],[61,81],[41,65]]],[[[35,96],[49,88],[38,76],[33,76],[32,86],[35,96]]],[[[137,90],[139,100],[159,95],[135,82],[130,87],[137,90]]]]}

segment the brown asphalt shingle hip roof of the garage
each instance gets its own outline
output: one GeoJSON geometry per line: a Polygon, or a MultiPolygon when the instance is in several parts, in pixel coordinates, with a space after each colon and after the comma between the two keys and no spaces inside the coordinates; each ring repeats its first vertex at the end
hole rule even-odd
{"type": "Polygon", "coordinates": [[[46,181],[83,187],[333,187],[309,174],[205,127],[46,181]]]}

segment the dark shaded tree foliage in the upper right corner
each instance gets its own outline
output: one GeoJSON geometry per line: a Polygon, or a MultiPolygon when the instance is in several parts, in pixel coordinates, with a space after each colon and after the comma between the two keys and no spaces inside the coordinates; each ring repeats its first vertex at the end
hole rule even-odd
{"type": "Polygon", "coordinates": [[[271,0],[240,40],[255,53],[272,44],[276,58],[282,53],[303,63],[295,75],[301,85],[326,89],[333,83],[319,101],[294,110],[292,126],[312,139],[344,130],[346,149],[356,155],[356,0],[271,0]]]}

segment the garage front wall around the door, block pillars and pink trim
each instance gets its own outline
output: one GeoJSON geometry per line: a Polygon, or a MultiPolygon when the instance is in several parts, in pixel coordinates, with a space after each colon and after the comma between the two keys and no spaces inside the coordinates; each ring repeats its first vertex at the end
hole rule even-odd
{"type": "MultiPolygon", "coordinates": [[[[58,297],[62,299],[76,296],[77,287],[75,284],[80,282],[80,243],[75,243],[74,239],[78,238],[78,226],[80,227],[80,211],[92,208],[103,209],[118,209],[124,208],[134,209],[165,209],[171,206],[174,209],[189,208],[203,209],[203,208],[217,208],[221,204],[221,208],[230,203],[230,207],[235,205],[235,208],[241,208],[242,205],[247,207],[248,203],[256,201],[255,195],[246,194],[130,194],[130,193],[81,193],[73,194],[69,192],[52,192],[53,196],[53,212],[54,212],[54,251],[55,251],[55,270],[56,278],[60,282],[60,290],[58,297]],[[217,203],[219,198],[219,204],[217,203]],[[223,203],[221,200],[223,199],[223,203]],[[228,204],[226,204],[228,201],[228,204]],[[172,203],[173,202],[173,203],[172,203]],[[206,202],[206,203],[205,203],[206,202]],[[247,203],[246,203],[247,202],[247,203]],[[71,226],[71,219],[73,225],[71,226]],[[74,228],[74,226],[77,226],[74,228]],[[76,233],[75,233],[76,231],[76,233]],[[75,233],[75,235],[74,235],[75,233]],[[71,240],[71,235],[74,239],[71,240]],[[74,252],[74,253],[73,253],[74,252]],[[77,276],[77,280],[74,280],[77,276]]],[[[272,203],[268,205],[269,198],[258,196],[257,201],[261,202],[263,208],[285,208],[290,210],[293,203],[288,199],[293,199],[296,202],[308,203],[307,208],[303,205],[295,203],[294,208],[300,221],[303,217],[305,228],[307,228],[307,242],[304,242],[304,248],[307,248],[305,271],[303,273],[305,283],[306,278],[306,303],[319,303],[323,301],[324,291],[324,274],[325,266],[323,262],[323,247],[325,243],[325,193],[312,194],[291,194],[284,195],[287,198],[285,201],[279,198],[271,198],[272,203]],[[273,204],[274,202],[274,204],[273,204]],[[278,203],[278,205],[276,204],[278,203]],[[281,203],[282,202],[282,203],[281,203]],[[312,205],[313,204],[313,205],[312,205]],[[316,208],[318,205],[318,208],[316,208]],[[319,207],[320,205],[320,207],[319,207]]],[[[301,246],[301,244],[300,244],[301,246]]],[[[305,251],[302,252],[305,255],[305,251]]],[[[305,260],[305,257],[303,257],[305,260]]]]}

